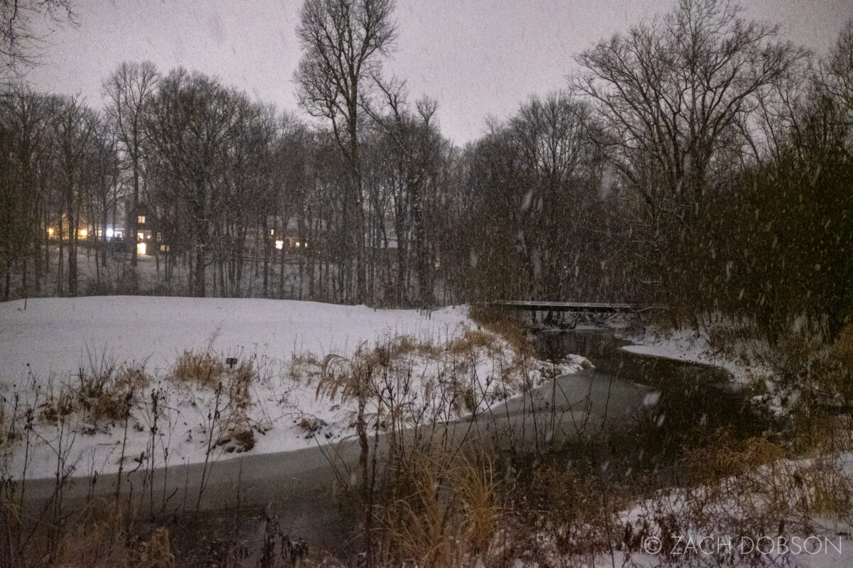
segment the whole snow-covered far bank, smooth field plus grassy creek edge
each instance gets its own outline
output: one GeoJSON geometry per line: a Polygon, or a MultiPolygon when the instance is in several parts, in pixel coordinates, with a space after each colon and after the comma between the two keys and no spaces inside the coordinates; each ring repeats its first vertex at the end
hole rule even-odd
{"type": "Polygon", "coordinates": [[[429,411],[444,418],[589,365],[579,357],[557,365],[520,358],[499,336],[476,330],[465,307],[421,313],[101,296],[31,299],[25,310],[12,301],[0,304],[6,473],[49,477],[57,463],[75,475],[112,473],[335,441],[352,433],[355,403],[339,392],[317,396],[323,360],[340,356],[333,370],[345,374],[348,358],[376,346],[392,353],[382,380],[406,382],[397,393],[431,393],[429,411]],[[215,368],[212,382],[177,378],[176,362],[192,359],[185,351],[215,368]],[[231,357],[238,364],[227,370],[223,361],[231,357]],[[105,370],[106,394],[92,393],[90,379],[105,370]],[[125,396],[126,421],[117,410],[125,396]]]}

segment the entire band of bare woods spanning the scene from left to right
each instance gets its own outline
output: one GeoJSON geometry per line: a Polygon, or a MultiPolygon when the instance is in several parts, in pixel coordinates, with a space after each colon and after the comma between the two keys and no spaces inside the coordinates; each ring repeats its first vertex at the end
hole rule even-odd
{"type": "Polygon", "coordinates": [[[115,290],[148,291],[136,248],[98,236],[126,219],[135,244],[145,215],[163,293],[630,301],[770,334],[848,321],[853,21],[814,55],[733,4],[681,0],[458,148],[437,102],[383,76],[393,8],[305,2],[295,78],[310,124],[148,63],[107,77],[98,112],[5,89],[3,297],[83,293],[81,227],[104,275],[120,263],[115,290]],[[301,246],[276,248],[284,237],[301,246]]]}

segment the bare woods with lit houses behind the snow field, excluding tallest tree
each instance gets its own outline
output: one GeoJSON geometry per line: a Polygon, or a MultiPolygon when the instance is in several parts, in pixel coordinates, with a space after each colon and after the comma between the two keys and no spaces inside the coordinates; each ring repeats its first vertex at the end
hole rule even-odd
{"type": "Polygon", "coordinates": [[[161,291],[245,295],[251,270],[253,295],[289,296],[295,278],[312,299],[411,305],[423,293],[432,303],[432,283],[416,284],[438,262],[444,226],[433,217],[451,148],[431,103],[412,112],[401,104],[363,136],[368,280],[357,297],[350,179],[330,132],[180,68],[123,64],[105,93],[101,112],[26,87],[3,93],[5,299],[84,293],[81,250],[96,257],[96,282],[150,291],[140,287],[135,244],[137,227],[151,227],[147,255],[161,291]],[[125,229],[120,254],[102,227],[125,229]],[[276,249],[284,235],[289,251],[276,249]],[[116,259],[124,269],[110,283],[116,259]]]}

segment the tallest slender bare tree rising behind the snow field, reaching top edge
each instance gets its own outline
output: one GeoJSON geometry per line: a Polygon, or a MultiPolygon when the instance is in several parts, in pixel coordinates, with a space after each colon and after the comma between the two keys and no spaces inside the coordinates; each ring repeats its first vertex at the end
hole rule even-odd
{"type": "Polygon", "coordinates": [[[396,37],[393,9],[393,0],[306,0],[297,28],[304,50],[295,75],[299,103],[311,116],[332,124],[334,139],[350,166],[347,201],[354,221],[358,301],[367,292],[359,111],[368,78],[379,72],[380,56],[396,37]]]}

